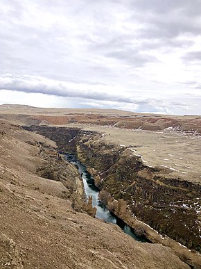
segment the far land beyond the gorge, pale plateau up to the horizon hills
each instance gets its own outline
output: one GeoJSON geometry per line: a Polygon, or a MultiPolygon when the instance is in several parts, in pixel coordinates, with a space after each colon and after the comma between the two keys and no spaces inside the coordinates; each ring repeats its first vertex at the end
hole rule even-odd
{"type": "Polygon", "coordinates": [[[199,116],[150,115],[101,109],[50,109],[19,105],[0,106],[0,116],[14,124],[26,125],[38,121],[36,124],[81,127],[103,132],[104,140],[126,147],[137,146],[132,149],[131,154],[141,155],[147,165],[159,165],[168,169],[171,177],[181,177],[201,184],[201,135],[195,131],[201,128],[199,116]],[[129,124],[132,121],[134,127],[128,125],[130,128],[126,129],[121,125],[122,120],[129,124]],[[180,125],[180,130],[171,127],[167,129],[167,120],[167,126],[177,124],[180,125]],[[120,122],[120,128],[117,128],[114,122],[120,122]],[[144,129],[137,128],[137,124],[141,122],[145,122],[144,129]],[[182,127],[186,128],[186,131],[182,131],[182,127]],[[149,131],[153,128],[156,130],[149,131]]]}

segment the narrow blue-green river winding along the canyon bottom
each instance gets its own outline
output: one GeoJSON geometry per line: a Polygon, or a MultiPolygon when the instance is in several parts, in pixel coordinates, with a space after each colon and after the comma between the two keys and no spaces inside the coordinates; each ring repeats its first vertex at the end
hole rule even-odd
{"type": "Polygon", "coordinates": [[[94,178],[91,177],[91,174],[89,174],[89,172],[87,172],[86,166],[82,165],[82,163],[77,161],[73,154],[64,154],[64,156],[65,158],[67,158],[68,161],[75,165],[76,168],[78,168],[78,172],[80,173],[80,176],[82,177],[85,186],[85,193],[87,197],[92,196],[92,206],[96,207],[97,209],[96,218],[105,220],[105,222],[115,223],[116,225],[121,227],[125,234],[129,234],[130,236],[132,236],[134,240],[137,240],[139,242],[148,242],[146,238],[141,238],[134,234],[132,228],[128,227],[128,225],[126,225],[123,220],[120,220],[115,215],[112,215],[110,211],[98,200],[98,194],[100,190],[95,186],[94,178]]]}

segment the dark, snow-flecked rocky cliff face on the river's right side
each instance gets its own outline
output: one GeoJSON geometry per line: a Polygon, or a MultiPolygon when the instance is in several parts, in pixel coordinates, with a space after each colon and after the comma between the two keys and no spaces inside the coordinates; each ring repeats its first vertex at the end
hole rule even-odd
{"type": "Polygon", "coordinates": [[[101,142],[101,136],[77,142],[78,158],[94,168],[96,185],[161,234],[201,252],[201,187],[167,178],[168,170],[143,165],[132,150],[101,142]]]}

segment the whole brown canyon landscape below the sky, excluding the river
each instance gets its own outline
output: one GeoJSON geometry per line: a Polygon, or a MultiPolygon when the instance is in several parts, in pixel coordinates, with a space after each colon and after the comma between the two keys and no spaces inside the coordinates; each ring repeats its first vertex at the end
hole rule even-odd
{"type": "Polygon", "coordinates": [[[10,263],[10,268],[34,268],[33,264],[38,268],[200,268],[199,117],[8,105],[0,106],[0,117],[0,195],[6,201],[4,206],[1,203],[2,264],[10,263]],[[87,165],[107,208],[152,244],[138,243],[116,225],[89,217],[93,209],[87,205],[78,171],[58,152],[75,154],[87,165]],[[33,222],[37,233],[26,243],[33,222]],[[8,223],[13,223],[13,229],[8,223]],[[76,230],[82,242],[79,247],[68,234],[69,227],[76,230]],[[57,245],[46,238],[46,231],[57,245]],[[45,247],[37,241],[40,252],[45,252],[45,265],[39,258],[34,260],[39,249],[30,255],[35,236],[48,241],[45,247]],[[106,247],[102,243],[107,237],[106,247]],[[51,255],[46,253],[50,245],[51,255]],[[90,245],[96,246],[91,250],[90,245]],[[71,253],[68,263],[62,257],[65,251],[71,253]],[[53,267],[51,258],[57,259],[58,267],[53,267]]]}

